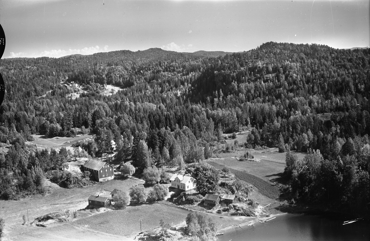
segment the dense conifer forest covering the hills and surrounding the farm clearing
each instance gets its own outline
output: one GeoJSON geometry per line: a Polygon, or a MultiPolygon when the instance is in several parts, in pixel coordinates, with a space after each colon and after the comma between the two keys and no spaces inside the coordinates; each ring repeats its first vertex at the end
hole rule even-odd
{"type": "Polygon", "coordinates": [[[212,155],[222,133],[251,130],[248,144],[287,151],[295,201],[370,208],[370,50],[269,42],[238,53],[152,48],[63,58],[0,60],[0,198],[42,193],[65,150],[34,150],[32,135],[75,136],[89,156],[111,151],[146,167],[212,155]],[[77,92],[64,82],[83,86],[77,92]],[[105,86],[121,90],[104,95],[105,86]],[[329,114],[327,114],[329,113],[329,114]],[[329,117],[325,117],[329,116],[329,117]],[[204,147],[204,148],[202,148],[204,147]],[[297,160],[289,150],[307,152],[297,160]]]}

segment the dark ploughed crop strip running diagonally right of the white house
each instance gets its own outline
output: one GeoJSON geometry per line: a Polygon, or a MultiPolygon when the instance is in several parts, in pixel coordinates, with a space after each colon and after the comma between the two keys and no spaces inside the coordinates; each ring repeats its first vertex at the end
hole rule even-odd
{"type": "MultiPolygon", "coordinates": [[[[216,167],[217,169],[222,169],[223,166],[215,163],[215,162],[208,162],[210,165],[216,167]]],[[[230,169],[230,172],[232,172],[235,177],[239,178],[240,180],[246,181],[247,183],[252,184],[255,186],[259,192],[269,198],[277,199],[280,195],[280,191],[276,186],[273,186],[268,181],[265,181],[263,179],[260,179],[259,177],[256,177],[252,174],[241,172],[235,169],[230,169]]]]}

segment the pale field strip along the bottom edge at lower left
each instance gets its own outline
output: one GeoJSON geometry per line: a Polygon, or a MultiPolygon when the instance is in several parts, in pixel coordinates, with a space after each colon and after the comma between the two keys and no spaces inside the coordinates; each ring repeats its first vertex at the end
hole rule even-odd
{"type": "MultiPolygon", "coordinates": [[[[6,237],[5,237],[6,238],[6,237]]],[[[20,233],[10,239],[12,241],[90,241],[90,240],[110,240],[110,241],[132,241],[131,238],[126,238],[118,235],[107,234],[91,229],[79,228],[70,224],[54,225],[47,228],[37,228],[33,231],[20,233]]]]}

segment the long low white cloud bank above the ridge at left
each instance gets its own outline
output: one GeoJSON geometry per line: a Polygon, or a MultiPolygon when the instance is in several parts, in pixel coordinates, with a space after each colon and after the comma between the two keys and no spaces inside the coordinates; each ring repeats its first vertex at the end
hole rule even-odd
{"type": "Polygon", "coordinates": [[[98,52],[107,52],[108,51],[108,45],[105,45],[104,48],[100,48],[98,45],[95,47],[85,47],[80,50],[77,49],[69,49],[69,50],[50,50],[50,51],[42,51],[39,53],[32,53],[29,54],[27,52],[19,52],[19,53],[14,53],[10,52],[10,55],[7,58],[17,58],[17,57],[28,57],[28,58],[37,58],[37,57],[54,57],[54,58],[59,58],[63,57],[66,55],[71,55],[71,54],[83,54],[83,55],[88,55],[88,54],[95,54],[98,52]]]}

